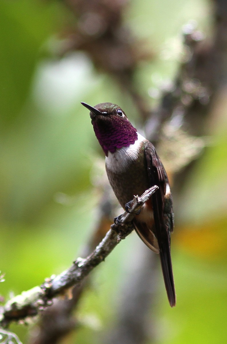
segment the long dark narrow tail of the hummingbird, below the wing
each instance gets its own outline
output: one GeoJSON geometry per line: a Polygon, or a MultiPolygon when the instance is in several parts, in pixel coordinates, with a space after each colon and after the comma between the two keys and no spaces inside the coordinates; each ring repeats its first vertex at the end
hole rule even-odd
{"type": "Polygon", "coordinates": [[[169,300],[169,304],[171,307],[176,305],[176,294],[175,294],[175,287],[174,287],[174,276],[172,273],[172,261],[170,255],[170,245],[169,245],[169,238],[168,233],[166,233],[166,238],[162,238],[164,240],[159,243],[159,255],[162,265],[163,271],[163,278],[165,282],[166,292],[169,300]]]}

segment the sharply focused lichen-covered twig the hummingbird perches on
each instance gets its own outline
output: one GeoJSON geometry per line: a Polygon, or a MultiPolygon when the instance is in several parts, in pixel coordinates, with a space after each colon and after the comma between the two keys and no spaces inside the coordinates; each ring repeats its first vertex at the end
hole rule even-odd
{"type": "Polygon", "coordinates": [[[24,291],[9,300],[2,309],[0,325],[4,327],[13,320],[21,320],[36,315],[39,310],[52,304],[53,297],[65,294],[67,289],[78,285],[89,272],[105,260],[122,239],[125,239],[132,232],[134,229],[133,218],[157,188],[155,185],[146,190],[141,197],[135,196],[130,202],[130,214],[124,212],[115,218],[115,223],[111,225],[104,239],[87,258],[77,258],[73,265],[60,275],[46,279],[41,286],[24,291]]]}

